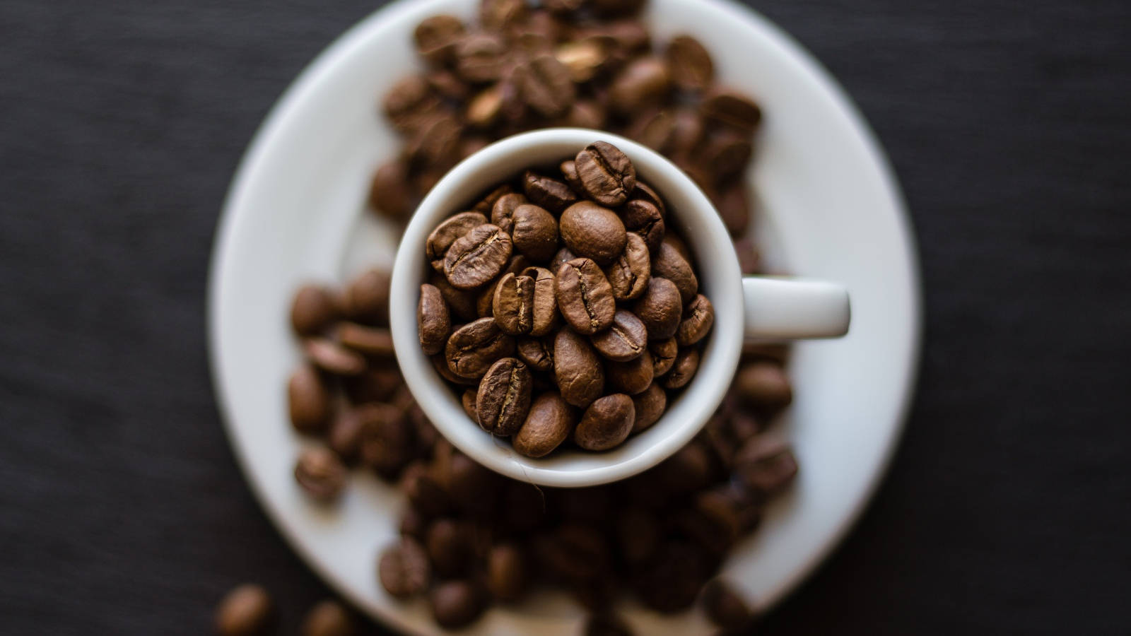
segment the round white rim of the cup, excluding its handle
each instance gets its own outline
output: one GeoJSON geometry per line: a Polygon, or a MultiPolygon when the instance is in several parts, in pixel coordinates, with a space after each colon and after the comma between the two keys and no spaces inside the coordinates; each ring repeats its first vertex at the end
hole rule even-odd
{"type": "MultiPolygon", "coordinates": [[[[668,207],[671,223],[673,206],[668,207]]],[[[390,293],[390,329],[397,363],[409,392],[437,430],[484,466],[516,480],[550,487],[578,488],[620,481],[655,466],[682,448],[722,403],[737,369],[743,342],[742,274],[731,237],[710,200],[683,171],[655,151],[618,135],[584,128],[550,128],[507,137],[452,167],[420,204],[405,229],[392,266],[390,293]],[[437,223],[461,209],[458,206],[467,201],[468,192],[478,194],[523,167],[544,164],[549,160],[524,160],[528,163],[510,169],[501,169],[501,165],[527,154],[549,152],[551,147],[566,147],[555,155],[566,158],[572,156],[569,148],[576,153],[596,140],[621,148],[632,160],[638,173],[649,175],[648,183],[665,201],[680,199],[690,204],[679,206],[674,216],[683,229],[684,239],[692,243],[697,252],[701,287],[706,281],[701,276],[703,265],[709,261],[706,269],[711,273],[711,290],[708,295],[716,304],[715,325],[702,350],[696,376],[677,399],[668,404],[659,421],[647,430],[606,452],[578,450],[564,455],[555,453],[543,458],[525,457],[512,449],[509,440],[491,437],[467,416],[458,397],[440,379],[420,347],[416,303],[420,285],[428,278],[422,256],[424,243],[437,223]],[[491,172],[499,174],[484,177],[491,172]],[[667,187],[657,186],[657,177],[667,187]],[[473,183],[484,179],[484,183],[473,183]],[[692,220],[693,223],[689,223],[692,220]],[[693,235],[689,235],[689,227],[694,230],[693,235]],[[725,299],[725,302],[717,302],[716,299],[725,299]],[[647,438],[647,444],[640,441],[644,438],[647,438]],[[633,440],[636,442],[630,444],[633,440]],[[578,463],[584,466],[567,467],[578,463]]]]}

